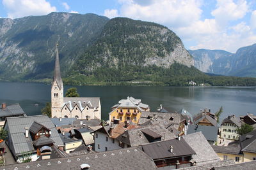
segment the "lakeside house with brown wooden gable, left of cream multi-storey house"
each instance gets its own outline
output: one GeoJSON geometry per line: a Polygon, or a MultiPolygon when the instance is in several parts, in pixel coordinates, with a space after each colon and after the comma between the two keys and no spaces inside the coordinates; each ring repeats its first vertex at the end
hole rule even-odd
{"type": "Polygon", "coordinates": [[[218,127],[217,117],[211,113],[210,109],[205,108],[200,113],[196,114],[193,118],[195,125],[206,125],[218,127]]]}

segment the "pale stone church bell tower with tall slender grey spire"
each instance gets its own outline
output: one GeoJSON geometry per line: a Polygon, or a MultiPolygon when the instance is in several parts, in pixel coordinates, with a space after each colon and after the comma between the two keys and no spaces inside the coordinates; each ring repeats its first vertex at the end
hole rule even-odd
{"type": "Polygon", "coordinates": [[[51,89],[52,117],[61,117],[61,108],[63,107],[63,102],[63,82],[60,75],[60,59],[57,43],[54,76],[52,79],[51,89]]]}

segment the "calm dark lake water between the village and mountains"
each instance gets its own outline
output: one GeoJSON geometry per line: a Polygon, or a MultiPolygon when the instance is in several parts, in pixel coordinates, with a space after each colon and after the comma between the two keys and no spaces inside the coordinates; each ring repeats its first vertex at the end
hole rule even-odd
{"type": "MultiPolygon", "coordinates": [[[[64,93],[70,87],[65,86],[64,93]]],[[[39,115],[45,103],[51,101],[51,85],[0,82],[0,90],[0,103],[19,103],[28,115],[39,115]]],[[[223,106],[221,120],[231,114],[256,113],[256,87],[77,86],[77,90],[81,97],[100,97],[104,120],[108,120],[111,106],[127,96],[141,99],[151,111],[163,104],[171,112],[185,108],[195,115],[203,108],[211,108],[214,113],[223,106]]]]}

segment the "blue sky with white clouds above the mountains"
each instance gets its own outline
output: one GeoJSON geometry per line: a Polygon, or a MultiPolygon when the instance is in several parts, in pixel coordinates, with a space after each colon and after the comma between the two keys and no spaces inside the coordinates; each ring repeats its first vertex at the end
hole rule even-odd
{"type": "Polygon", "coordinates": [[[53,11],[129,17],[162,24],[190,50],[227,50],[256,43],[256,0],[0,0],[1,18],[53,11]]]}

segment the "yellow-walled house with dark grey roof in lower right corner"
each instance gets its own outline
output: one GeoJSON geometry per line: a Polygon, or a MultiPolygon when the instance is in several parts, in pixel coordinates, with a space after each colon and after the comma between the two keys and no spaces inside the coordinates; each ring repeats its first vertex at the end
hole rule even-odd
{"type": "Polygon", "coordinates": [[[221,160],[233,159],[238,162],[256,160],[256,131],[239,137],[239,141],[229,143],[228,146],[212,146],[221,160]]]}

